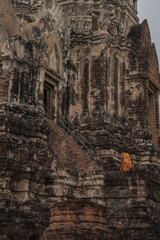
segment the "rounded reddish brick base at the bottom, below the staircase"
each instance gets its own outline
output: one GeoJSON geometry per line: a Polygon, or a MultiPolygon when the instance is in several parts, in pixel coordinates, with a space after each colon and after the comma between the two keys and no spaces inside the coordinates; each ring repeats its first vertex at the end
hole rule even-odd
{"type": "Polygon", "coordinates": [[[52,204],[50,226],[42,240],[113,239],[106,227],[106,208],[90,201],[71,200],[52,204]]]}

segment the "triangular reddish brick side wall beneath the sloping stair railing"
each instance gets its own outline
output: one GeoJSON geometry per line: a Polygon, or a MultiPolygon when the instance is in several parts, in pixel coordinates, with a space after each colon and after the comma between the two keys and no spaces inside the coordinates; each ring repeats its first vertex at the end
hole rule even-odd
{"type": "Polygon", "coordinates": [[[50,120],[51,145],[58,158],[58,167],[62,169],[77,170],[78,172],[100,170],[100,166],[83,151],[72,138],[50,120]]]}

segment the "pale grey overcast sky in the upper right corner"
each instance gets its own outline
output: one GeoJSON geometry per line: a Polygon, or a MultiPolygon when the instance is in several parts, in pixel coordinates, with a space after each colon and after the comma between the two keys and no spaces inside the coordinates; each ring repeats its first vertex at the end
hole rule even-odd
{"type": "Polygon", "coordinates": [[[138,16],[140,22],[148,20],[160,63],[160,0],[138,0],[138,16]]]}

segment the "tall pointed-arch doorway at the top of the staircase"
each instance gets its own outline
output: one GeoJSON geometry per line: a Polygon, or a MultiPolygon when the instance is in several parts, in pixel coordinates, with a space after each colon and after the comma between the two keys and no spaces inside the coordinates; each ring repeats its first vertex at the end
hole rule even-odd
{"type": "Polygon", "coordinates": [[[55,32],[51,32],[44,40],[48,58],[45,60],[46,69],[43,84],[43,104],[47,115],[56,116],[58,109],[58,91],[63,82],[62,51],[55,32]]]}

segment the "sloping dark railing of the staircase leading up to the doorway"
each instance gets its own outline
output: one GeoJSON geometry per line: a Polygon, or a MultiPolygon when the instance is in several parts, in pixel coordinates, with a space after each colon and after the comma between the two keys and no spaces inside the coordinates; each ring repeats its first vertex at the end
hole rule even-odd
{"type": "Polygon", "coordinates": [[[41,105],[45,111],[45,117],[53,120],[65,133],[67,133],[74,142],[76,142],[82,150],[84,150],[90,157],[97,157],[97,153],[93,146],[79,133],[75,132],[75,128],[67,120],[60,116],[55,116],[53,112],[46,106],[41,105]]]}

